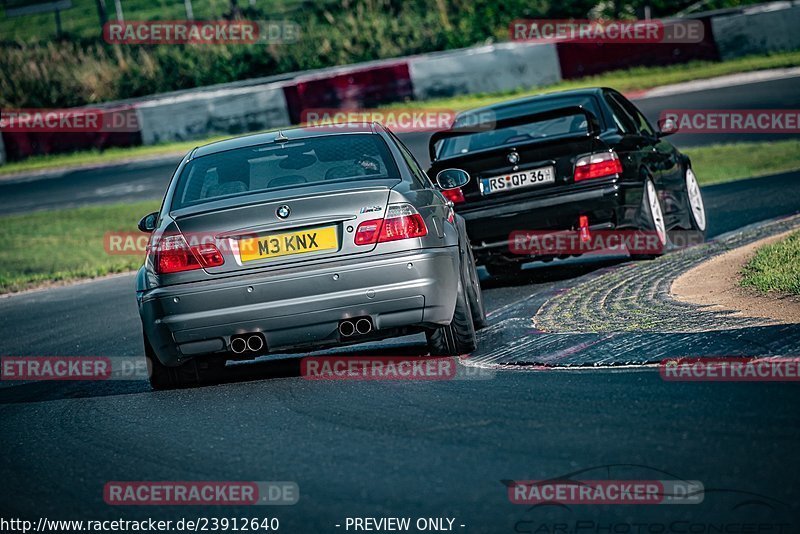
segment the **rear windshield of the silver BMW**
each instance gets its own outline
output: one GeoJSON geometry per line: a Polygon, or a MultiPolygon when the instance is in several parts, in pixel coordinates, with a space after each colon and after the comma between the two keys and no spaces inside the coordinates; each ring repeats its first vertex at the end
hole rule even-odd
{"type": "Polygon", "coordinates": [[[375,179],[400,179],[389,147],[378,135],[273,142],[190,161],[178,178],[172,209],[249,193],[375,179]]]}

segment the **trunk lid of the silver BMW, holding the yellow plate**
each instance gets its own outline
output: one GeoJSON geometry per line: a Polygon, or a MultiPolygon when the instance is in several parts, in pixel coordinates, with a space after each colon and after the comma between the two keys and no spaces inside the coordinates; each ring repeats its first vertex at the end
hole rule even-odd
{"type": "Polygon", "coordinates": [[[224,264],[207,267],[210,274],[285,267],[373,250],[354,243],[354,230],[383,217],[396,184],[384,179],[253,194],[234,205],[210,202],[172,216],[190,246],[213,243],[222,253],[224,264]]]}

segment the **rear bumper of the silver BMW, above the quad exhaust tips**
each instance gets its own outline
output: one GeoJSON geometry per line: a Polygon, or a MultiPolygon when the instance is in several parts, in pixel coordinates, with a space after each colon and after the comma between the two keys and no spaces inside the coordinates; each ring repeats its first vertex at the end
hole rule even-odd
{"type": "Polygon", "coordinates": [[[447,324],[458,290],[458,247],[314,264],[140,293],[159,360],[227,353],[230,336],[262,332],[269,350],[335,344],[342,319],[376,330],[447,324]]]}

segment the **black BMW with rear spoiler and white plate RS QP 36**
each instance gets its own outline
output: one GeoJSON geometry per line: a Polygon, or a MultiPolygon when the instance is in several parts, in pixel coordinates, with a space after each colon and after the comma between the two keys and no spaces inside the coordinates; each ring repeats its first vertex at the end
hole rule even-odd
{"type": "Polygon", "coordinates": [[[691,234],[696,243],[705,235],[691,161],[664,139],[675,131],[670,120],[653,128],[613,89],[551,93],[461,113],[431,137],[428,174],[456,168],[473,178],[444,193],[466,219],[476,260],[492,274],[580,255],[580,243],[597,234],[645,234],[645,246],[628,252],[652,257],[671,236],[691,234]],[[526,248],[523,239],[520,247],[525,232],[577,241],[526,248]]]}

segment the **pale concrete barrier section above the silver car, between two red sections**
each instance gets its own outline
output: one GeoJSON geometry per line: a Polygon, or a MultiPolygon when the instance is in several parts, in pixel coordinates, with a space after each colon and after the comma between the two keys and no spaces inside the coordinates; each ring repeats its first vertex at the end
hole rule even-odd
{"type": "Polygon", "coordinates": [[[145,145],[290,124],[283,86],[279,83],[154,98],[138,104],[136,114],[145,145]]]}

